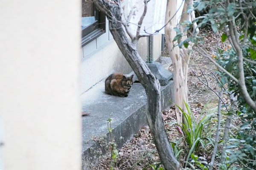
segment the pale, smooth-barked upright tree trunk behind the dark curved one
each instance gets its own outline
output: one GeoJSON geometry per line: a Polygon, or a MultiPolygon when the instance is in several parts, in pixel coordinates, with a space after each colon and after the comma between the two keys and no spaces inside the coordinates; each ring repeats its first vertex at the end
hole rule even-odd
{"type": "MultiPolygon", "coordinates": [[[[184,20],[189,20],[189,14],[187,14],[186,10],[189,5],[192,5],[193,0],[186,0],[184,3],[182,15],[180,18],[180,23],[184,20]]],[[[179,49],[178,46],[174,47],[174,42],[172,41],[176,36],[176,32],[173,28],[176,27],[176,0],[167,0],[166,6],[166,18],[165,21],[167,23],[165,27],[165,38],[168,46],[169,56],[172,59],[173,65],[173,75],[174,75],[174,102],[178,105],[184,112],[186,111],[186,106],[184,102],[188,103],[188,67],[189,67],[189,59],[190,54],[188,54],[188,50],[192,48],[192,45],[189,45],[189,48],[179,49]]],[[[194,19],[194,13],[192,13],[194,19]]],[[[183,28],[180,27],[180,30],[183,32],[183,28]]],[[[181,40],[185,40],[186,35],[182,37],[181,40]]],[[[179,108],[176,107],[176,117],[177,122],[180,124],[182,122],[182,112],[179,108]]]]}

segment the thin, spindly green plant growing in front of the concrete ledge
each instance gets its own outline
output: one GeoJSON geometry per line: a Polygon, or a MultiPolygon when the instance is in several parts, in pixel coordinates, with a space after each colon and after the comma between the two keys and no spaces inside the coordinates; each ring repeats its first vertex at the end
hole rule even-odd
{"type": "Polygon", "coordinates": [[[118,155],[118,150],[116,149],[116,143],[113,139],[113,133],[112,133],[112,127],[111,127],[111,121],[112,119],[108,119],[108,132],[110,133],[110,142],[109,142],[109,149],[111,152],[110,156],[110,170],[114,170],[114,164],[116,161],[116,156],[118,155]]]}

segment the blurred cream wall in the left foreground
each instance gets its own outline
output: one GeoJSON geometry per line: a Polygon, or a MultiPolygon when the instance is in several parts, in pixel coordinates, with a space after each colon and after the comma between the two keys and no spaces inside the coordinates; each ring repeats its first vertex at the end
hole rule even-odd
{"type": "Polygon", "coordinates": [[[79,170],[81,1],[0,4],[0,169],[79,170]]]}

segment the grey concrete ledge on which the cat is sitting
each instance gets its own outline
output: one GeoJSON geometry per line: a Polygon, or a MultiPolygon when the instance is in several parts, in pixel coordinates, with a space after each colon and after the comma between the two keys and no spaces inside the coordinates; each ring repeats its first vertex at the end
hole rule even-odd
{"type": "MultiPolygon", "coordinates": [[[[118,148],[129,141],[133,134],[146,122],[146,94],[143,86],[134,83],[128,97],[110,96],[104,93],[104,80],[92,89],[82,94],[82,110],[89,116],[82,117],[82,158],[83,170],[86,162],[93,161],[96,157],[105,154],[105,144],[108,143],[107,119],[112,119],[112,132],[118,148]],[[92,136],[101,139],[94,142],[92,136]]],[[[173,81],[166,86],[161,86],[162,109],[169,108],[173,100],[173,81]]]]}

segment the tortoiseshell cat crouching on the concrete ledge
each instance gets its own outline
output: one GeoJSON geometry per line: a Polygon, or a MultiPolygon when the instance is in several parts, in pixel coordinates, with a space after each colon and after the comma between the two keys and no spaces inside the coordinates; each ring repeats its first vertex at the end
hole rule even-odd
{"type": "Polygon", "coordinates": [[[126,77],[124,74],[113,73],[105,80],[105,93],[114,95],[127,97],[130,92],[131,85],[133,84],[132,78],[134,75],[130,77],[126,77]]]}

